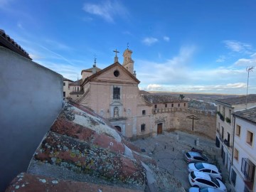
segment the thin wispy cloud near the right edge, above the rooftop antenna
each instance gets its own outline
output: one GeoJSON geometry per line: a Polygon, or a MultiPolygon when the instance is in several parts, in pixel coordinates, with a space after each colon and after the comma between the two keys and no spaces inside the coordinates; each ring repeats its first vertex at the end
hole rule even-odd
{"type": "Polygon", "coordinates": [[[237,52],[237,53],[244,53],[244,54],[251,54],[252,53],[252,46],[249,43],[242,43],[240,41],[223,41],[225,43],[225,47],[237,52]]]}

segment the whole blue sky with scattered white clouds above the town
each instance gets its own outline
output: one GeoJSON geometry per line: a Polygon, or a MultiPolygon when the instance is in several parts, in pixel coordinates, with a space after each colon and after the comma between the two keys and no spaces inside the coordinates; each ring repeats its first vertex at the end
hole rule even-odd
{"type": "MultiPolygon", "coordinates": [[[[0,28],[36,63],[77,80],[127,48],[142,90],[246,94],[255,0],[0,0],[0,28]]],[[[249,93],[256,93],[256,68],[249,93]]]]}

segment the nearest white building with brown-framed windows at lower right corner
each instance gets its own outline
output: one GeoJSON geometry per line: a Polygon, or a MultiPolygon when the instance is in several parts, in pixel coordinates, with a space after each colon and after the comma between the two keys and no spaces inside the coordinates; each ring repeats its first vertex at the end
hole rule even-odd
{"type": "Polygon", "coordinates": [[[235,191],[255,192],[256,107],[233,114],[234,148],[230,181],[235,191]]]}

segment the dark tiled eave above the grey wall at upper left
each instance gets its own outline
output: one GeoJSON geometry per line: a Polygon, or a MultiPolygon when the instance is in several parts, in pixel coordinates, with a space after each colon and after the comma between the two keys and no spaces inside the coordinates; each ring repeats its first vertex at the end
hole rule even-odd
{"type": "Polygon", "coordinates": [[[23,50],[21,46],[18,45],[14,41],[14,39],[10,38],[9,35],[5,33],[4,30],[0,29],[0,46],[4,46],[5,48],[9,48],[10,50],[13,50],[15,53],[18,53],[19,55],[22,55],[25,58],[28,58],[32,60],[28,53],[26,53],[26,50],[23,50]]]}

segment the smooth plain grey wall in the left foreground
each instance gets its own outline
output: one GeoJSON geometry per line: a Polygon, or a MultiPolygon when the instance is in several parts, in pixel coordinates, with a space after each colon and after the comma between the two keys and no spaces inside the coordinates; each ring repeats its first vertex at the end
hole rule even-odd
{"type": "Polygon", "coordinates": [[[63,77],[0,46],[0,191],[21,171],[63,106],[63,77]]]}

